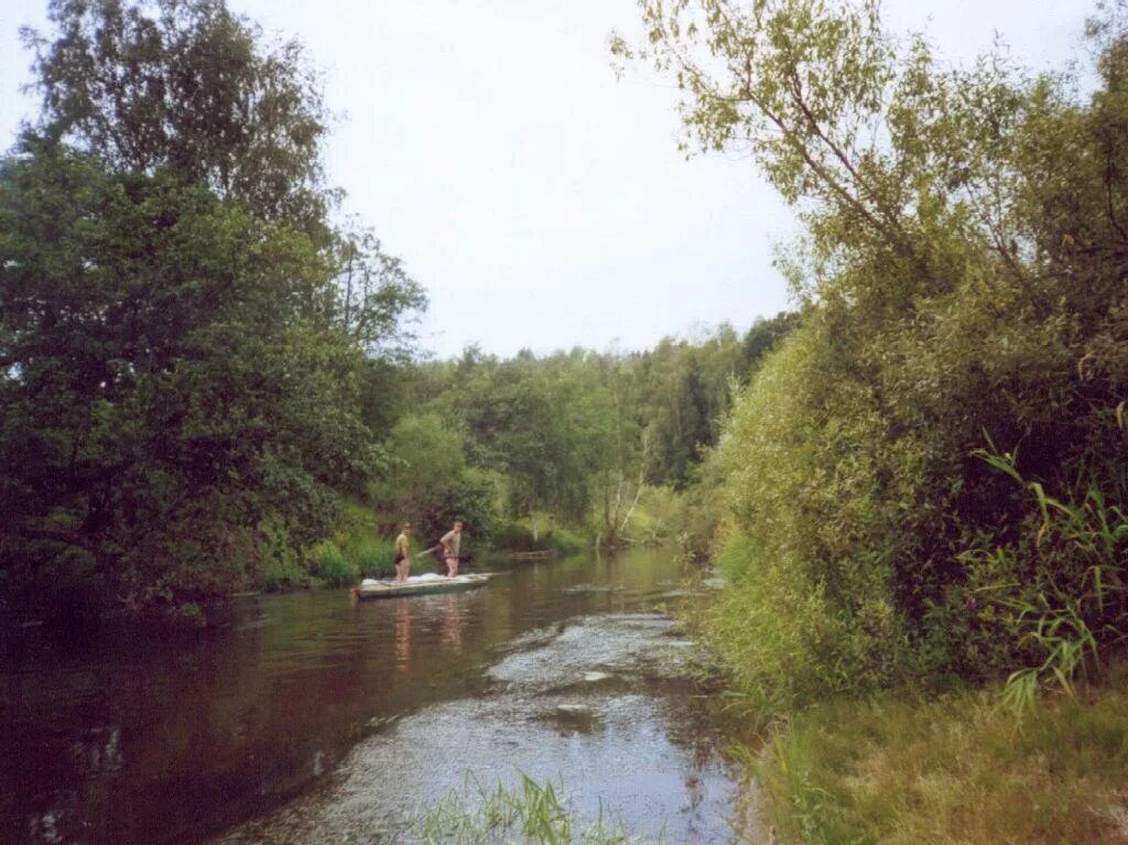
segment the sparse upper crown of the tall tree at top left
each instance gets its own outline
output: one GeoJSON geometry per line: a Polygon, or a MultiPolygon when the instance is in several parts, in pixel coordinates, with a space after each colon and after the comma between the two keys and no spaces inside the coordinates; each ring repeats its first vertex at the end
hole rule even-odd
{"type": "Polygon", "coordinates": [[[270,220],[328,237],[328,114],[300,43],[264,44],[223,0],[51,0],[35,53],[42,114],[28,139],[113,171],[171,173],[270,220]]]}

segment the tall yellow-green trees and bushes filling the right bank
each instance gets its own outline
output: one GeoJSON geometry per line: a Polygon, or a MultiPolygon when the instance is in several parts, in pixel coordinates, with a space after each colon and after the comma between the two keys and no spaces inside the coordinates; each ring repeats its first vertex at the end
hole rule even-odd
{"type": "Polygon", "coordinates": [[[711,634],[767,707],[1100,677],[1128,636],[1128,27],[1095,74],[952,69],[875,2],[643,2],[687,143],[752,153],[805,236],[802,325],[704,473],[711,634]],[[1095,80],[1092,90],[1090,80],[1095,80]]]}

